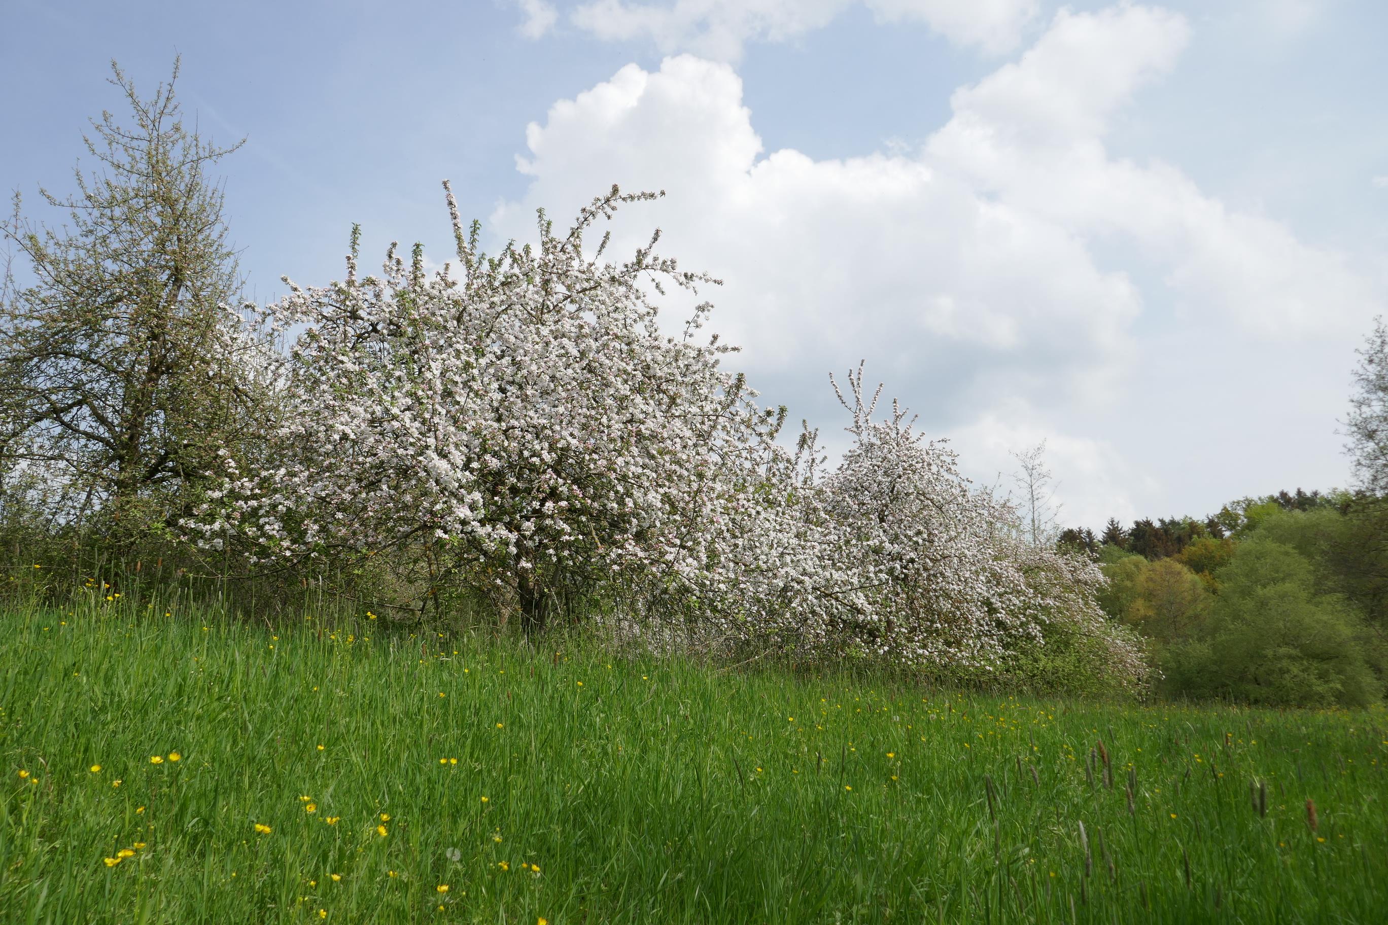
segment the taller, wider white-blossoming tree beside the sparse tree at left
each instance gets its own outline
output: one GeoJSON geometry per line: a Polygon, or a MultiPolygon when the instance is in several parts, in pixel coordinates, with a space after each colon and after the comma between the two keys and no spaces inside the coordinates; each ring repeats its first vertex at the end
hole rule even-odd
{"type": "MultiPolygon", "coordinates": [[[[730,348],[663,336],[643,283],[694,290],[706,276],[654,252],[620,265],[586,255],[615,187],[566,234],[540,221],[536,247],[487,257],[451,193],[459,266],[387,255],[346,282],[290,283],[271,305],[303,326],[286,358],[272,465],[228,481],[201,512],[204,542],[235,535],[261,562],[390,553],[423,598],[473,584],[515,595],[539,625],[604,584],[698,567],[690,535],[716,517],[715,483],[759,452],[777,422],[719,368],[730,348]],[[454,272],[457,270],[457,272],[454,272]]],[[[289,280],[286,280],[289,283],[289,280]]]]}

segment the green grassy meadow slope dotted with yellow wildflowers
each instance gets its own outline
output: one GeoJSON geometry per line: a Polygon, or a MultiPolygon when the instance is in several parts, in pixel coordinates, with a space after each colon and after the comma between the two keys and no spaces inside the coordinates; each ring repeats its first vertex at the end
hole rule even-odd
{"type": "Polygon", "coordinates": [[[958,696],[321,623],[100,596],[0,614],[6,919],[1367,922],[1388,907],[1382,711],[958,696]]]}

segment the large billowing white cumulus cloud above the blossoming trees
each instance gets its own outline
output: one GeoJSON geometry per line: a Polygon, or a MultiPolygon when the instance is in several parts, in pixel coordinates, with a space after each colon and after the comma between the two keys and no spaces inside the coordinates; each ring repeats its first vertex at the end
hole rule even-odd
{"type": "MultiPolygon", "coordinates": [[[[663,251],[726,280],[704,293],[715,327],[744,345],[738,366],[768,399],[824,424],[833,444],[824,376],[866,358],[927,433],[974,452],[963,462],[980,478],[1004,442],[1049,437],[1070,510],[1094,526],[1178,481],[1171,467],[1187,460],[1144,442],[1163,427],[1219,444],[1230,480],[1266,465],[1276,429],[1191,430],[1209,387],[1199,374],[1223,376],[1241,401],[1273,351],[1299,361],[1376,304],[1342,255],[1231,209],[1170,164],[1106,150],[1115,115],[1176,67],[1188,36],[1184,18],[1151,7],[1062,11],[1019,60],[955,92],[922,148],[844,159],[763,150],[727,64],[627,65],[527,128],[529,187],[491,226],[526,239],[537,207],[562,221],[612,183],[663,189],[618,221],[618,243],[659,225],[663,251]],[[1140,338],[1140,322],[1156,333],[1140,338]],[[1173,368],[1181,355],[1201,372],[1173,368]]],[[[1289,377],[1259,387],[1295,413],[1324,401],[1289,377]]],[[[1248,491],[1208,476],[1210,495],[1248,491]]]]}

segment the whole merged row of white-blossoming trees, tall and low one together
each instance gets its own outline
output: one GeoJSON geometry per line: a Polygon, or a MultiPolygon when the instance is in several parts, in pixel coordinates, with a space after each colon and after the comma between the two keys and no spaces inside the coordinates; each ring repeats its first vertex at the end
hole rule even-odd
{"type": "Polygon", "coordinates": [[[648,198],[613,187],[568,233],[541,214],[536,245],[487,257],[450,193],[458,265],[432,275],[416,245],[358,277],[354,232],[344,282],[268,306],[298,331],[289,413],[261,465],[225,456],[198,541],[260,563],[389,559],[422,605],[476,588],[527,630],[601,598],[731,645],[987,671],[1063,621],[1141,674],[1092,563],[1022,542],[895,404],[876,420],[861,368],[840,392],[854,444],[823,474],[815,434],[776,444],[784,410],[756,408],[720,366],[733,348],[697,338],[708,304],[662,334],[648,290],[716,280],[657,255],[658,233],[622,263],[608,236],[584,251],[648,198]]]}

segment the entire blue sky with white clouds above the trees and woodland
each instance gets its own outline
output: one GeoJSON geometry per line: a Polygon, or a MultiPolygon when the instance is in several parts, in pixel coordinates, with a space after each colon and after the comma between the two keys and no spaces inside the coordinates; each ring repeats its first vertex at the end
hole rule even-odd
{"type": "MultiPolygon", "coordinates": [[[[725,280],[713,327],[834,445],[859,359],[994,481],[1045,438],[1062,519],[1348,481],[1388,305],[1377,0],[3,0],[0,184],[71,189],[118,58],[223,161],[248,291],[340,276],[353,222],[448,257],[619,219],[725,280]]],[[[672,313],[679,306],[672,305],[672,313]]]]}

